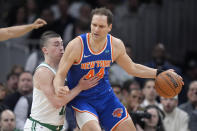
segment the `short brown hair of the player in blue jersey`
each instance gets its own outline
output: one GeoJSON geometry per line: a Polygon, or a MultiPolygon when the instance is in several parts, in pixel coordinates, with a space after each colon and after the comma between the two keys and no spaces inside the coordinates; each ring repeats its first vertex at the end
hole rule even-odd
{"type": "Polygon", "coordinates": [[[92,12],[91,12],[91,20],[92,20],[94,15],[105,15],[105,16],[107,16],[107,24],[108,25],[112,24],[112,22],[113,22],[113,14],[107,8],[102,7],[102,8],[93,9],[92,12]]]}

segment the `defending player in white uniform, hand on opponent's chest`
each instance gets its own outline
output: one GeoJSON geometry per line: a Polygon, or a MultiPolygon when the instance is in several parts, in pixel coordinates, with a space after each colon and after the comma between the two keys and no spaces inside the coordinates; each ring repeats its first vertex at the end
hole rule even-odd
{"type": "Polygon", "coordinates": [[[45,61],[35,70],[31,114],[25,123],[24,131],[60,131],[64,124],[66,104],[82,90],[97,85],[99,79],[94,77],[85,80],[83,77],[72,90],[65,88],[66,95],[56,96],[53,79],[64,53],[63,42],[60,35],[47,31],[42,34],[40,45],[45,61]]]}

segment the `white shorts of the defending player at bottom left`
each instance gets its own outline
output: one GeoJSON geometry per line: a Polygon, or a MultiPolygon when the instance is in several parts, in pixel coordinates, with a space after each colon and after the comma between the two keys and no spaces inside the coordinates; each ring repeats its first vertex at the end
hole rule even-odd
{"type": "MultiPolygon", "coordinates": [[[[30,119],[27,119],[24,126],[24,131],[52,131],[45,126],[40,125],[38,122],[34,122],[30,119]]],[[[64,131],[62,129],[61,131],[64,131]]]]}

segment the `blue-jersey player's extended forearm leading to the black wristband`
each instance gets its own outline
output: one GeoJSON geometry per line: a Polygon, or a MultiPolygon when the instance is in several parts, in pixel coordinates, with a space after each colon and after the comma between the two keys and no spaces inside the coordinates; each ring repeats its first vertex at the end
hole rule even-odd
{"type": "Polygon", "coordinates": [[[130,74],[141,78],[155,78],[156,73],[157,69],[149,68],[141,64],[135,64],[130,74]]]}

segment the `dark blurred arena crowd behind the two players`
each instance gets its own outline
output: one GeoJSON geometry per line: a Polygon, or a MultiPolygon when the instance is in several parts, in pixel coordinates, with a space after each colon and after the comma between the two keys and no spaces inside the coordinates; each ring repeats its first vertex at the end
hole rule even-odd
{"type": "MultiPolygon", "coordinates": [[[[196,130],[196,0],[0,0],[0,27],[30,24],[38,17],[48,23],[23,37],[0,42],[1,110],[12,110],[17,128],[23,128],[29,114],[25,105],[30,105],[32,97],[32,73],[43,60],[40,35],[53,30],[62,36],[66,46],[90,30],[90,13],[96,7],[113,12],[111,34],[124,42],[133,61],[163,70],[174,69],[184,79],[179,96],[160,98],[154,80],[129,76],[116,63],[112,65],[110,82],[133,116],[138,131],[151,126],[158,126],[155,131],[196,130]],[[152,117],[145,112],[152,113],[152,117]],[[150,122],[154,115],[159,118],[155,123],[150,122]]],[[[76,123],[72,111],[67,112],[67,130],[72,130],[76,123]]]]}

